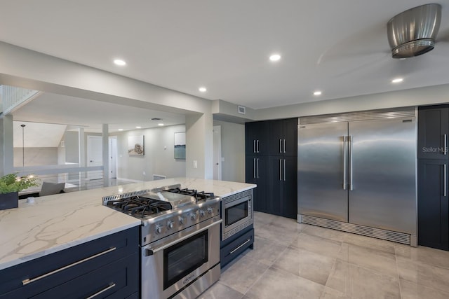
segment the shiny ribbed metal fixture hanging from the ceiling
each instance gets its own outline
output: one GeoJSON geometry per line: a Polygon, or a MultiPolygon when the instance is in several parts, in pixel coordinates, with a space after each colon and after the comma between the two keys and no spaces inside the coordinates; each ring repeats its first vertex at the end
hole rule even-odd
{"type": "Polygon", "coordinates": [[[395,15],[387,24],[393,58],[409,58],[435,47],[440,29],[441,5],[426,4],[395,15]]]}

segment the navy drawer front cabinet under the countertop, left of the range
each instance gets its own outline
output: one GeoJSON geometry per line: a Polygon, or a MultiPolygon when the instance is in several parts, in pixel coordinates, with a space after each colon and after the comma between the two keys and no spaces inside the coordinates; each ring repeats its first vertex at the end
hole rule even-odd
{"type": "Polygon", "coordinates": [[[126,298],[139,291],[138,228],[0,271],[0,298],[126,298]]]}

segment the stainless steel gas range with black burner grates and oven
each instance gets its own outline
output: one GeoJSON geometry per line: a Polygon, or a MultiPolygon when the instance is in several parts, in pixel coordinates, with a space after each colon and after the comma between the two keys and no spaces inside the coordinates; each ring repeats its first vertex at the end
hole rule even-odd
{"type": "Polygon", "coordinates": [[[180,185],[103,198],[142,219],[141,298],[196,298],[220,278],[220,200],[180,185]]]}

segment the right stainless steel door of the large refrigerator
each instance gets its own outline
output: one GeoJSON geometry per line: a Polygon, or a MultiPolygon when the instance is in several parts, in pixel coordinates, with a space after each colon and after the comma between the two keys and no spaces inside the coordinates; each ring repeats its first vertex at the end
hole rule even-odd
{"type": "Polygon", "coordinates": [[[350,223],[416,234],[416,136],[415,118],[349,123],[350,223]]]}

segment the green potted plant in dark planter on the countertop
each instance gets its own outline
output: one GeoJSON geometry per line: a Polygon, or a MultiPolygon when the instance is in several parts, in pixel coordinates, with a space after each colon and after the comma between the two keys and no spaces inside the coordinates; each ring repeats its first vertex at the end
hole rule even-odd
{"type": "Polygon", "coordinates": [[[5,174],[0,177],[0,210],[12,209],[19,206],[19,191],[32,186],[38,186],[36,176],[18,176],[17,173],[5,174]]]}

